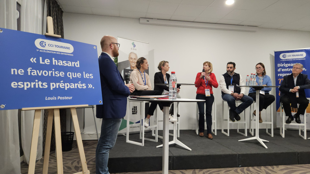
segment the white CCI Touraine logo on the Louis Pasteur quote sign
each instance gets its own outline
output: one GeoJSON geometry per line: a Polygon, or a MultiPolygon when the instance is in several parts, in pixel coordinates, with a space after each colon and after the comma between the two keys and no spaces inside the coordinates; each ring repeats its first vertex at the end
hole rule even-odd
{"type": "Polygon", "coordinates": [[[34,41],[34,45],[38,47],[38,49],[45,49],[50,51],[59,51],[64,53],[72,53],[73,46],[68,43],[57,42],[53,40],[46,40],[46,39],[36,39],[34,41]]]}

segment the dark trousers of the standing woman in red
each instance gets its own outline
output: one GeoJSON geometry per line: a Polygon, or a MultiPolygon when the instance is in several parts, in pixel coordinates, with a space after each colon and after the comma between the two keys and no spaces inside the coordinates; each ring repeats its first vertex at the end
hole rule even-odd
{"type": "MultiPolygon", "coordinates": [[[[199,110],[199,132],[205,131],[205,103],[206,103],[206,124],[207,124],[207,134],[211,134],[211,128],[212,128],[212,105],[214,102],[214,96],[211,94],[211,96],[206,97],[204,94],[196,94],[196,99],[198,100],[206,100],[205,102],[197,102],[198,104],[198,110],[199,110]]],[[[216,117],[216,116],[215,116],[216,117]]]]}

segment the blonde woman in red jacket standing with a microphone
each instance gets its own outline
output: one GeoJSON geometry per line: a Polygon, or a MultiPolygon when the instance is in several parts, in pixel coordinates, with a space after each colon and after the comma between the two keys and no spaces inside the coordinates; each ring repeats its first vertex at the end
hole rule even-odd
{"type": "MultiPolygon", "coordinates": [[[[213,139],[211,134],[212,127],[212,105],[214,102],[214,96],[212,86],[217,88],[217,83],[214,73],[212,73],[212,63],[204,62],[203,70],[196,76],[195,87],[197,87],[196,99],[206,100],[205,102],[197,102],[199,109],[199,136],[204,137],[205,131],[205,112],[204,105],[206,103],[206,123],[207,123],[207,135],[209,139],[213,139]]],[[[216,116],[215,116],[216,117],[216,116]]]]}

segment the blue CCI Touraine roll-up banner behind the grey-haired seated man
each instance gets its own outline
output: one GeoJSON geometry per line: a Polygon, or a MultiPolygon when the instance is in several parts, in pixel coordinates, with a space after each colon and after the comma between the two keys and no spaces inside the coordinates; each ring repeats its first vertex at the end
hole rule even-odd
{"type": "MultiPolygon", "coordinates": [[[[275,51],[274,52],[275,60],[275,77],[276,77],[276,86],[280,86],[283,81],[283,77],[286,75],[292,74],[292,68],[295,63],[303,64],[302,74],[307,74],[308,78],[310,77],[310,48],[305,49],[292,49],[285,51],[275,51]]],[[[309,100],[310,90],[306,89],[306,97],[309,100]]],[[[277,101],[277,126],[281,125],[281,116],[280,116],[280,91],[279,88],[276,88],[276,101],[277,101]]],[[[284,112],[284,111],[283,111],[284,112]]],[[[309,106],[306,109],[306,121],[310,121],[309,106]]],[[[295,112],[292,112],[294,115],[295,112]]],[[[287,118],[285,118],[286,120],[287,118]]],[[[301,123],[303,123],[303,115],[301,115],[301,123]]],[[[287,125],[288,128],[298,128],[298,126],[287,125]]],[[[307,124],[307,129],[310,128],[310,125],[307,124]]]]}

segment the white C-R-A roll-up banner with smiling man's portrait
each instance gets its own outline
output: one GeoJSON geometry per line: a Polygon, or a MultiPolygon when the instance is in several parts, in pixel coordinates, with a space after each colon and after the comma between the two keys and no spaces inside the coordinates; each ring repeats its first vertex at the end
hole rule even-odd
{"type": "MultiPolygon", "coordinates": [[[[154,60],[149,60],[148,57],[148,42],[143,42],[139,40],[134,39],[128,39],[124,37],[117,37],[117,42],[120,44],[119,50],[118,50],[118,70],[123,76],[124,80],[126,76],[130,77],[130,74],[132,70],[136,69],[136,62],[140,57],[144,57],[148,60],[148,64],[152,66],[154,60]]],[[[148,74],[149,70],[145,70],[145,72],[148,74]]],[[[148,74],[151,76],[150,74],[148,74]]],[[[140,119],[141,119],[141,113],[140,113],[140,103],[139,102],[131,102],[129,111],[126,112],[126,116],[124,117],[121,127],[119,129],[119,134],[123,134],[126,132],[126,120],[127,115],[130,113],[130,122],[129,122],[129,131],[130,132],[138,132],[140,131],[140,119]]],[[[148,107],[146,107],[148,108],[148,107]]],[[[150,121],[150,123],[152,123],[150,121]]]]}

